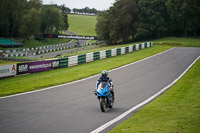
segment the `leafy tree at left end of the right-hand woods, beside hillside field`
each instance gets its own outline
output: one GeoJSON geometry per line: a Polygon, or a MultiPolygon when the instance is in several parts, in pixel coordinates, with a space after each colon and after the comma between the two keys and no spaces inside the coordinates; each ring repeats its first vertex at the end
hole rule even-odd
{"type": "Polygon", "coordinates": [[[107,14],[97,17],[97,35],[104,40],[109,38],[112,44],[130,41],[134,35],[133,23],[137,12],[136,0],[116,1],[107,14]]]}

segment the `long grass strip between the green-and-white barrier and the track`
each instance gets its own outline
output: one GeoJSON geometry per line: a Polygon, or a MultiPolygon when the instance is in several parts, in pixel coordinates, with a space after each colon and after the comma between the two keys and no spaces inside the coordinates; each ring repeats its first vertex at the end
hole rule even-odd
{"type": "Polygon", "coordinates": [[[110,70],[117,68],[119,66],[157,54],[169,48],[171,48],[171,46],[153,46],[151,48],[135,51],[126,55],[98,60],[74,67],[17,76],[15,78],[1,79],[0,96],[37,90],[86,78],[98,74],[104,69],[110,70]]]}

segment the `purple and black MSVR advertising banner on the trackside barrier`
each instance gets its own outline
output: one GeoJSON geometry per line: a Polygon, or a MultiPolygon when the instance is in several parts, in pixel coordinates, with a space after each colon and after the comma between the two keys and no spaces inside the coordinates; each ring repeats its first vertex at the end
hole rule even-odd
{"type": "Polygon", "coordinates": [[[59,60],[38,61],[17,64],[17,74],[48,71],[59,67],[59,60]]]}

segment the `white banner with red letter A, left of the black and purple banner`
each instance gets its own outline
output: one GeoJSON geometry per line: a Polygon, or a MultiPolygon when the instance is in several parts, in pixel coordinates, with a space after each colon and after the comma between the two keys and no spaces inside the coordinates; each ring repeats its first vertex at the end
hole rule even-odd
{"type": "Polygon", "coordinates": [[[0,66],[0,78],[17,74],[16,64],[0,66]]]}

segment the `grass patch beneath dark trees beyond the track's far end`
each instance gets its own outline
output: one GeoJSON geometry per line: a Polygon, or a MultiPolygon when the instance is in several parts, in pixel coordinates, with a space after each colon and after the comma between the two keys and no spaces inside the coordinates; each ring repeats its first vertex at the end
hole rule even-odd
{"type": "Polygon", "coordinates": [[[200,47],[200,38],[166,37],[154,40],[156,44],[178,44],[182,47],[200,47]]]}

